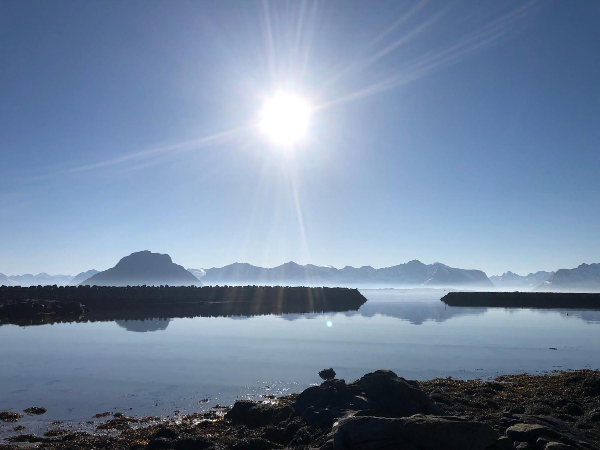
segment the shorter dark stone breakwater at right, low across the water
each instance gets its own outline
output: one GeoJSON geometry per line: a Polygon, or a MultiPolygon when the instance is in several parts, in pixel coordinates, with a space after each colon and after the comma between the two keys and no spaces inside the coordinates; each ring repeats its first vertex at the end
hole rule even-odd
{"type": "Polygon", "coordinates": [[[464,307],[600,309],[600,293],[449,292],[442,301],[464,307]]]}

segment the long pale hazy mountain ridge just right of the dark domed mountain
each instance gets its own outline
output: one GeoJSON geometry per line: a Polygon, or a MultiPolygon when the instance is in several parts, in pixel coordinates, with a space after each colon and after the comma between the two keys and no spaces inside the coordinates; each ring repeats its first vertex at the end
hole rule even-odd
{"type": "Polygon", "coordinates": [[[287,262],[274,268],[233,263],[221,268],[206,269],[204,284],[283,284],[304,286],[352,287],[475,287],[491,289],[493,284],[479,270],[457,269],[442,263],[424,264],[412,260],[405,264],[374,269],[371,266],[299,265],[287,262]]]}

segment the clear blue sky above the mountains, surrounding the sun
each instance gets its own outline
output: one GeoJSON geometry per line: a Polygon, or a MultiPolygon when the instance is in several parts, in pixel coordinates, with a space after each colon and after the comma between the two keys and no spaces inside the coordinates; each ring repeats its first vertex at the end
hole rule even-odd
{"type": "Polygon", "coordinates": [[[600,262],[598,2],[0,3],[0,272],[600,262]],[[291,150],[266,98],[313,106],[291,150]]]}

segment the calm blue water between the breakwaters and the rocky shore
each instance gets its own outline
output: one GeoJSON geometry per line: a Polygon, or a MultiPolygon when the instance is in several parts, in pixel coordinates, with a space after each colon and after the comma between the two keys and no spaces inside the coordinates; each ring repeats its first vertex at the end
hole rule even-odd
{"type": "Polygon", "coordinates": [[[377,368],[430,379],[600,367],[600,311],[366,296],[347,313],[0,326],[0,410],[44,406],[41,421],[191,413],[301,391],[325,367],[346,380],[377,368]]]}

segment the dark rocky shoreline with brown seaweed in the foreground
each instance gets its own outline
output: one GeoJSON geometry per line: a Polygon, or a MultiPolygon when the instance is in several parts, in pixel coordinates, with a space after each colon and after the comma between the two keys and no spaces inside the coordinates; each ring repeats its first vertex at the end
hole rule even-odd
{"type": "MultiPolygon", "coordinates": [[[[98,431],[21,434],[1,450],[569,450],[600,445],[600,371],[415,382],[387,370],[346,383],[322,371],[301,394],[173,418],[106,413],[98,431]]],[[[17,419],[18,421],[18,419],[17,419]]],[[[17,425],[18,424],[14,424],[17,425]]]]}

